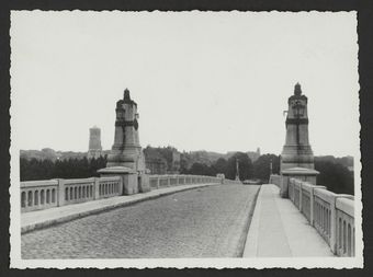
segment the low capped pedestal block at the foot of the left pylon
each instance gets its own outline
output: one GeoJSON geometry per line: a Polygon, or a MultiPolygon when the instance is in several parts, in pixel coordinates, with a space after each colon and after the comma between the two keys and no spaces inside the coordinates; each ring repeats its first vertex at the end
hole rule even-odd
{"type": "Polygon", "coordinates": [[[120,195],[137,194],[138,187],[138,174],[136,171],[125,166],[112,166],[98,171],[101,176],[121,176],[122,186],[120,188],[120,195]]]}

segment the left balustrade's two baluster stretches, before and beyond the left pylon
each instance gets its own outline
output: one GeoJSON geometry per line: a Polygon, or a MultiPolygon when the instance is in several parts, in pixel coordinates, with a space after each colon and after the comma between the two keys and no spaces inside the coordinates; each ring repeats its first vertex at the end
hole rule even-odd
{"type": "MultiPolygon", "coordinates": [[[[223,183],[221,177],[199,175],[150,175],[150,187],[223,183]]],[[[120,176],[21,182],[21,212],[91,201],[123,194],[120,176]]]]}

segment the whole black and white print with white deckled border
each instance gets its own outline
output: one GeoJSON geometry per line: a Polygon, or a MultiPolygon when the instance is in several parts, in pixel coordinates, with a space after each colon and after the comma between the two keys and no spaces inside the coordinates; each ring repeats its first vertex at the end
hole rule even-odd
{"type": "Polygon", "coordinates": [[[363,267],[355,11],[10,20],[11,267],[363,267]]]}

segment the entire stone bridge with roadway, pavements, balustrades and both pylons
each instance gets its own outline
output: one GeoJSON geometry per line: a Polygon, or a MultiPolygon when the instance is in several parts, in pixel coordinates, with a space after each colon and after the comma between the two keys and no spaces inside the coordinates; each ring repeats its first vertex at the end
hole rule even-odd
{"type": "Polygon", "coordinates": [[[289,99],[280,175],[149,175],[137,104],[116,103],[101,177],[21,182],[22,258],[354,256],[354,197],[316,185],[307,97],[289,99]]]}

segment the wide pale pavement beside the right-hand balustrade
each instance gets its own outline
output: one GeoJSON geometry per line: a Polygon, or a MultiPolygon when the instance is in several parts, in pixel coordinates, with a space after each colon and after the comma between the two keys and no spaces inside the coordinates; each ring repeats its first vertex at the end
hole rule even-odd
{"type": "Polygon", "coordinates": [[[244,257],[334,256],[327,243],[275,185],[262,185],[244,257]]]}

